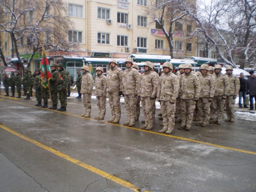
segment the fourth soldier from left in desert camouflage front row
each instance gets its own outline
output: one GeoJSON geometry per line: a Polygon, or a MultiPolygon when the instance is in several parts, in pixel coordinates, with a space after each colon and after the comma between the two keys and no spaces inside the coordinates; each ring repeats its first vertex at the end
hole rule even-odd
{"type": "Polygon", "coordinates": [[[137,103],[138,88],[139,88],[139,72],[132,68],[133,61],[131,58],[125,60],[126,70],[123,75],[123,93],[124,103],[127,114],[127,122],[124,125],[132,127],[135,121],[135,108],[137,103]]]}

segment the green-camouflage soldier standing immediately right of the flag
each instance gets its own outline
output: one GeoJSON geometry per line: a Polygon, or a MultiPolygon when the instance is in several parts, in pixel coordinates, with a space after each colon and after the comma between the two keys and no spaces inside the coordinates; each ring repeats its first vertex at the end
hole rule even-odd
{"type": "Polygon", "coordinates": [[[49,80],[52,106],[49,109],[57,109],[58,105],[58,90],[57,90],[57,78],[59,76],[59,71],[57,71],[57,66],[55,64],[51,65],[52,78],[49,80]]]}

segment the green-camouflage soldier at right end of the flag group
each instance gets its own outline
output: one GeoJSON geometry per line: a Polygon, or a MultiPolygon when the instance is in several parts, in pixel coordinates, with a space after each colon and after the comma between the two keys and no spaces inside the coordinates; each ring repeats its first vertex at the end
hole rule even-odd
{"type": "Polygon", "coordinates": [[[67,85],[68,85],[68,74],[66,70],[63,69],[63,64],[58,63],[57,69],[59,71],[59,75],[57,77],[57,90],[59,94],[60,100],[60,108],[58,111],[66,111],[67,107],[67,85]]]}

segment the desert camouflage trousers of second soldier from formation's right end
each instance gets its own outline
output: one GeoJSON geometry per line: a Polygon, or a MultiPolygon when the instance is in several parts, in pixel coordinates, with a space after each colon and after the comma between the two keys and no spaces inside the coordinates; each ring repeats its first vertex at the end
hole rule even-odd
{"type": "Polygon", "coordinates": [[[212,120],[213,121],[220,121],[222,120],[223,110],[225,105],[225,100],[222,99],[223,96],[214,96],[212,99],[212,120]]]}

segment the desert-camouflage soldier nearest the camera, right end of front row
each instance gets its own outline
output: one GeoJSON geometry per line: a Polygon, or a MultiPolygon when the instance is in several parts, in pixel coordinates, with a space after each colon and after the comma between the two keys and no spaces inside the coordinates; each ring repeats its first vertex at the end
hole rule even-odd
{"type": "Polygon", "coordinates": [[[161,113],[164,127],[162,130],[159,130],[159,132],[171,134],[174,128],[175,105],[179,95],[180,82],[178,77],[172,73],[172,63],[165,62],[163,69],[164,76],[159,82],[157,98],[161,101],[161,113]]]}

